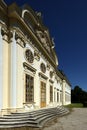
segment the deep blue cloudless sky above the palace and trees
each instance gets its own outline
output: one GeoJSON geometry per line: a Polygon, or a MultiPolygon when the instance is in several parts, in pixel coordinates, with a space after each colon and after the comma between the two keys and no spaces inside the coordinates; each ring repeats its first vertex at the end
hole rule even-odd
{"type": "Polygon", "coordinates": [[[44,24],[54,37],[62,69],[72,87],[87,91],[87,1],[84,0],[5,0],[22,6],[28,3],[42,13],[44,24]]]}

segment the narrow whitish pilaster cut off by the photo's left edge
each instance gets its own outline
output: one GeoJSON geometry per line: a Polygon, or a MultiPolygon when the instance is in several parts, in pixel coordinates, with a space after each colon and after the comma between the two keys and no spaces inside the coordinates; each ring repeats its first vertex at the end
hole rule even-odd
{"type": "Polygon", "coordinates": [[[0,109],[2,109],[2,93],[3,93],[3,40],[0,26],[0,109]]]}

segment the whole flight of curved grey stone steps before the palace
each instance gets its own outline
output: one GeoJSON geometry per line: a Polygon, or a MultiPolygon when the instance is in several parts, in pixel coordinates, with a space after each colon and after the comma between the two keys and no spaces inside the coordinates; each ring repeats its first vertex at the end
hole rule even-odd
{"type": "Polygon", "coordinates": [[[64,107],[55,107],[48,109],[41,109],[32,112],[11,113],[0,117],[0,128],[15,128],[15,127],[41,127],[43,124],[53,119],[69,113],[68,109],[64,107]]]}

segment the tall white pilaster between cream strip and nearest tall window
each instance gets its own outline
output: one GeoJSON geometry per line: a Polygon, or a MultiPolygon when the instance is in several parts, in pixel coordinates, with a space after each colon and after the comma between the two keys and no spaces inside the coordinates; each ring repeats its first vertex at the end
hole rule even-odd
{"type": "Polygon", "coordinates": [[[13,31],[13,38],[11,41],[11,107],[16,107],[16,64],[17,64],[17,46],[15,40],[15,31],[13,31]]]}

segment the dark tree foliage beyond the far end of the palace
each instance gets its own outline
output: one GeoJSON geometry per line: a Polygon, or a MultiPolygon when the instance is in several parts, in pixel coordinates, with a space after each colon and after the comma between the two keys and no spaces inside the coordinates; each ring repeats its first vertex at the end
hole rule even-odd
{"type": "Polygon", "coordinates": [[[79,86],[75,86],[71,90],[71,102],[72,103],[83,103],[87,102],[87,92],[82,90],[79,86]]]}

